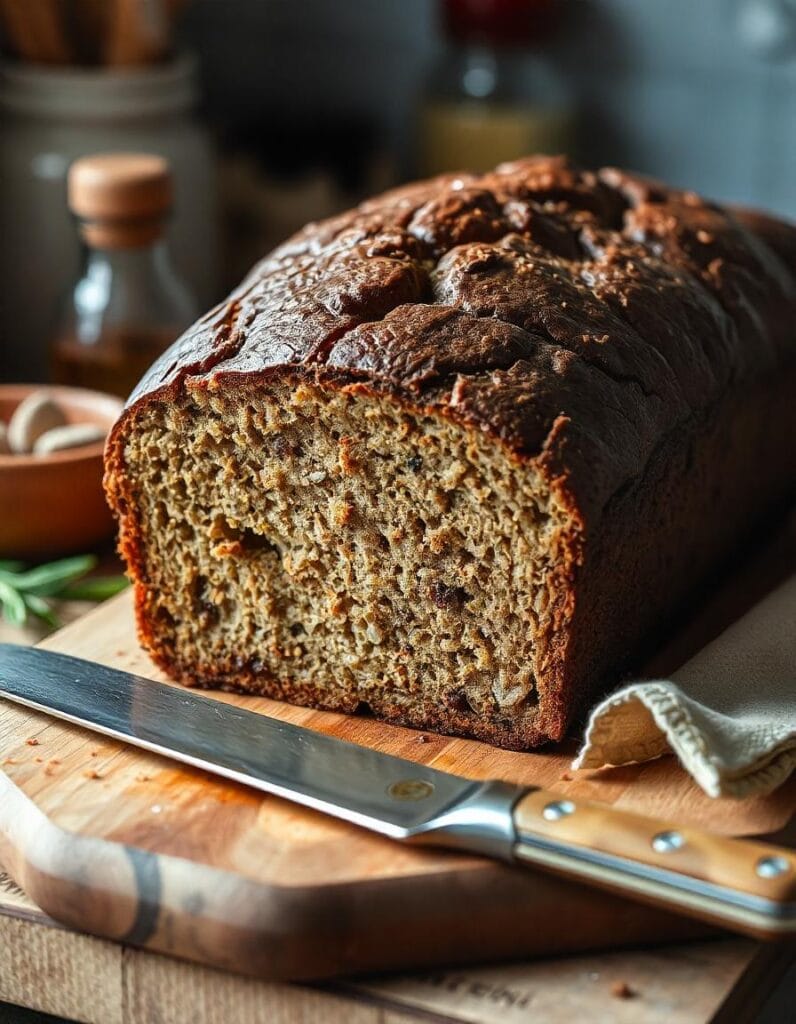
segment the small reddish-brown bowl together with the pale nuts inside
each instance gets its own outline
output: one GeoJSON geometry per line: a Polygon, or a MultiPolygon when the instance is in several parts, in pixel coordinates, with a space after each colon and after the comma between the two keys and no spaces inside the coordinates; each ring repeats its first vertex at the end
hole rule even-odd
{"type": "Polygon", "coordinates": [[[84,551],[112,536],[102,449],[122,404],[82,388],[0,384],[0,558],[84,551]]]}

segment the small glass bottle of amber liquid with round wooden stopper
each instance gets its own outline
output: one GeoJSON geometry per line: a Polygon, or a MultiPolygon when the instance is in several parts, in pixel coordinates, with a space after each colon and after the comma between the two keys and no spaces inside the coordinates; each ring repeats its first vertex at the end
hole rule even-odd
{"type": "Polygon", "coordinates": [[[149,154],[83,157],[70,168],[68,197],[85,257],[52,343],[52,376],[127,395],[198,315],[164,238],[169,166],[149,154]]]}

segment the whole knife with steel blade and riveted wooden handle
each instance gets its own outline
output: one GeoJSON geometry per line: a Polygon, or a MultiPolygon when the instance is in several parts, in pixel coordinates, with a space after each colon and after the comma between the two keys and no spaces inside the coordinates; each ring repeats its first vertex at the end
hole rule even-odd
{"type": "Polygon", "coordinates": [[[82,658],[0,644],[0,696],[407,843],[540,867],[757,937],[796,933],[796,852],[473,781],[82,658]]]}

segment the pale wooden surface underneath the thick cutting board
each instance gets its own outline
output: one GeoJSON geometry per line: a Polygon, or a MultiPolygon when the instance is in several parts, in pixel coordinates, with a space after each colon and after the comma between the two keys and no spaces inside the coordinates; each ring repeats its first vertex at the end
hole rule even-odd
{"type": "MultiPolygon", "coordinates": [[[[760,587],[748,593],[756,600],[760,587]]],[[[720,623],[725,605],[712,602],[708,618],[720,623]]],[[[35,628],[0,623],[0,640],[39,639],[35,628]]],[[[784,1024],[794,1019],[794,944],[726,938],[334,984],[261,982],[70,931],[0,871],[0,1000],[87,1024],[784,1024]]]]}

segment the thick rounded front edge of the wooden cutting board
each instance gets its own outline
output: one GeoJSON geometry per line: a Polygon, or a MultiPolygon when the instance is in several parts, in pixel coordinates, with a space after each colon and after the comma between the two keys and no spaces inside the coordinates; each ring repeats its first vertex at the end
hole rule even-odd
{"type": "Polygon", "coordinates": [[[514,868],[485,861],[480,869],[460,871],[455,855],[450,871],[425,876],[355,886],[264,885],[70,833],[2,772],[0,863],[60,925],[261,979],[320,979],[621,948],[648,943],[651,935],[662,943],[712,934],[534,872],[522,873],[526,898],[518,899],[514,868]],[[439,908],[430,921],[428,906],[439,908]],[[418,928],[421,911],[426,920],[418,928]],[[506,928],[512,916],[517,931],[506,928]]]}

